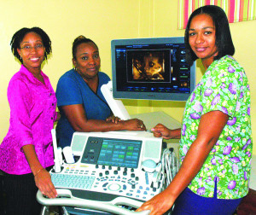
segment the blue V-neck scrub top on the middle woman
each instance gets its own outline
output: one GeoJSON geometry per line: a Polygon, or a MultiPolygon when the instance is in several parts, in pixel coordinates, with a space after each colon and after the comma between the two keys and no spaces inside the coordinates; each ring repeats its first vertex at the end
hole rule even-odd
{"type": "Polygon", "coordinates": [[[111,115],[104,96],[102,95],[102,84],[108,84],[110,78],[107,74],[99,72],[98,89],[95,92],[74,69],[63,74],[58,81],[56,89],[57,106],[61,113],[61,119],[56,126],[58,146],[64,148],[70,146],[73,137],[73,127],[67,120],[61,106],[83,104],[87,119],[105,120],[111,115]]]}

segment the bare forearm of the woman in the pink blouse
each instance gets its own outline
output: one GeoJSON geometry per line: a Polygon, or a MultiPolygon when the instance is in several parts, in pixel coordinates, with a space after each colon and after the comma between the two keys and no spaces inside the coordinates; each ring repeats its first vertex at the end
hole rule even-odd
{"type": "Polygon", "coordinates": [[[29,144],[22,147],[22,150],[26,156],[26,160],[30,166],[30,169],[35,176],[39,170],[43,169],[44,167],[40,164],[38,160],[38,155],[36,154],[34,145],[29,144]]]}

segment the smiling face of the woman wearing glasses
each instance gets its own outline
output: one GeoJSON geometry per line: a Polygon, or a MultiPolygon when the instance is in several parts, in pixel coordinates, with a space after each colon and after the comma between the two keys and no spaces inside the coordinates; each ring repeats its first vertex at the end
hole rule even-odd
{"type": "Polygon", "coordinates": [[[22,58],[23,65],[30,72],[41,71],[41,64],[44,61],[44,44],[42,38],[36,32],[28,32],[17,49],[22,58]]]}

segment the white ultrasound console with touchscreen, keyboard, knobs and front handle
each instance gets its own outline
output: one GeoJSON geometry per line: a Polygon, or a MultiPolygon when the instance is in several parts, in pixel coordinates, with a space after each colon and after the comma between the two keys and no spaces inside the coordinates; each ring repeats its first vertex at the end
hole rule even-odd
{"type": "Polygon", "coordinates": [[[44,206],[72,206],[81,214],[93,214],[82,208],[148,214],[134,210],[165,189],[162,139],[148,131],[75,132],[71,149],[76,161],[50,171],[58,197],[48,199],[38,191],[44,206]]]}

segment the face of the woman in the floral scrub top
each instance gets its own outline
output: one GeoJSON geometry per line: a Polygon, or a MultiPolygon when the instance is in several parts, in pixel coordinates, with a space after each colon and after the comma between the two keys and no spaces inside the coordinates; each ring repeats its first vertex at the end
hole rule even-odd
{"type": "Polygon", "coordinates": [[[213,57],[218,55],[215,41],[215,26],[211,16],[196,15],[189,26],[189,45],[203,64],[208,66],[211,65],[213,57]]]}

